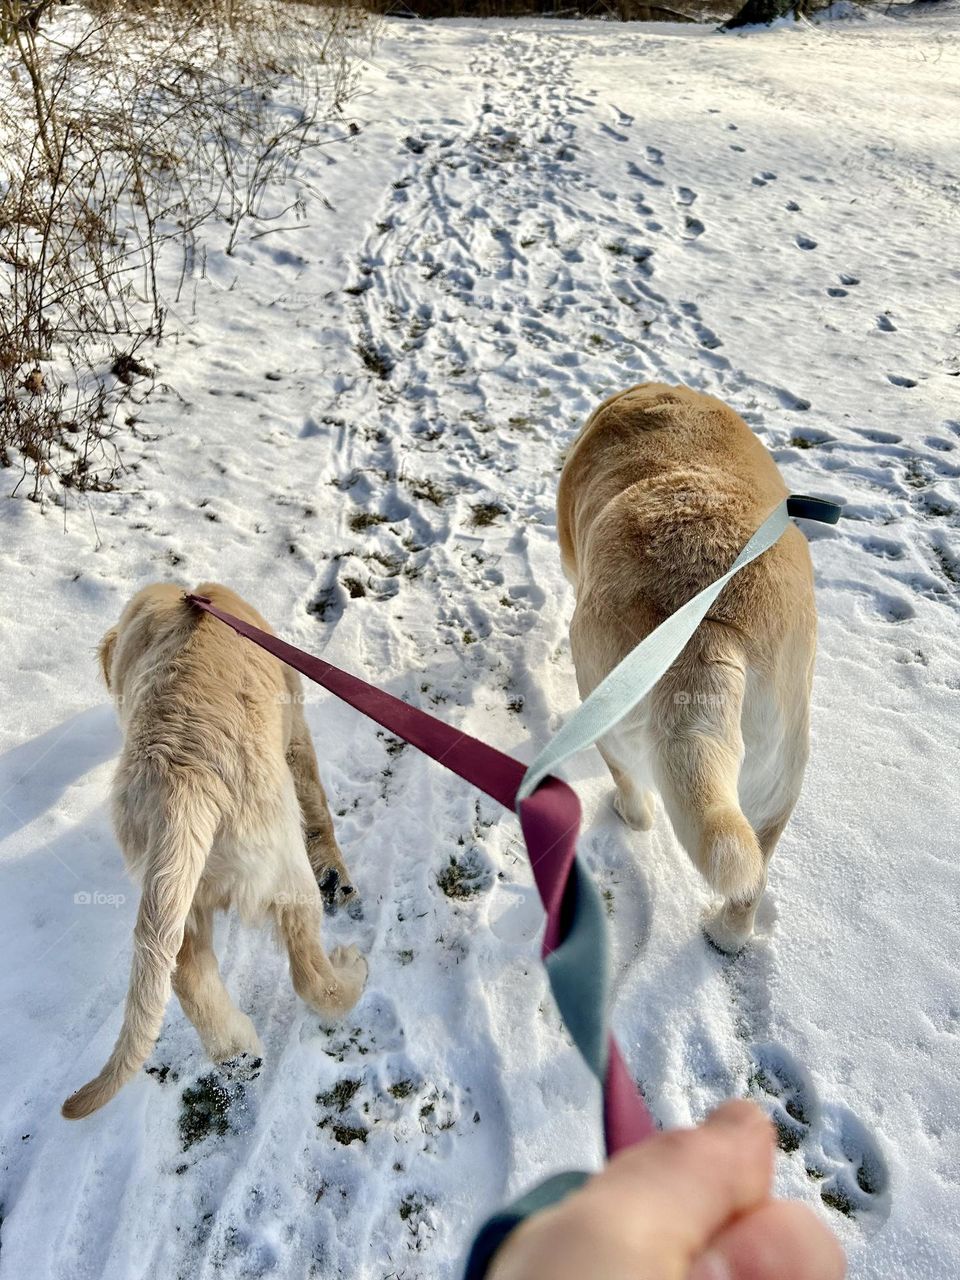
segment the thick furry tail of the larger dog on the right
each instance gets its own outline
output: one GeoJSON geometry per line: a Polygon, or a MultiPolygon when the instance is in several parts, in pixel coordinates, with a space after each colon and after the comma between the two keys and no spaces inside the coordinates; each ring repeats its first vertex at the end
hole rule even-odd
{"type": "Polygon", "coordinates": [[[653,767],[677,838],[735,901],[763,890],[756,835],[740,809],[746,655],[736,630],[705,621],[650,695],[653,767]]]}

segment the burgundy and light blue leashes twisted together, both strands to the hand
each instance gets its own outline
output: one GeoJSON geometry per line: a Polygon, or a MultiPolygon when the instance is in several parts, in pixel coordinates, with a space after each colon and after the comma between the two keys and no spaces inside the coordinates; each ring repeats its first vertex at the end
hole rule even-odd
{"type": "MultiPolygon", "coordinates": [[[[602,1085],[608,1155],[649,1138],[655,1125],[607,1028],[609,952],[604,909],[596,886],[576,856],[580,801],[552,771],[575,751],[596,741],[644,696],[681,652],[723,585],[773,545],[786,530],[790,516],[832,525],[840,515],[841,508],[836,503],[822,498],[801,494],[785,498],[753,534],[731,568],[640,641],[554,735],[529,769],[486,742],[461,733],[416,707],[408,707],[399,698],[234,618],[209,596],[186,596],[196,608],[225,622],[238,635],[252,640],[517,813],[547,913],[543,961],[561,1016],[602,1085]]],[[[488,1219],[474,1239],[465,1280],[483,1280],[497,1249],[520,1222],[568,1196],[588,1176],[584,1172],[558,1174],[488,1219]]]]}

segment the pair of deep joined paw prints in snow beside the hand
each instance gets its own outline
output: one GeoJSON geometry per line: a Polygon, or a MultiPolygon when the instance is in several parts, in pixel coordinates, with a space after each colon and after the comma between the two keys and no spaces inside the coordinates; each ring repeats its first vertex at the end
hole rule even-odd
{"type": "Polygon", "coordinates": [[[861,1222],[890,1211],[890,1172],[867,1125],[844,1106],[823,1106],[809,1071],[780,1044],[754,1050],[750,1092],[769,1111],[777,1144],[801,1152],[829,1208],[861,1222]]]}

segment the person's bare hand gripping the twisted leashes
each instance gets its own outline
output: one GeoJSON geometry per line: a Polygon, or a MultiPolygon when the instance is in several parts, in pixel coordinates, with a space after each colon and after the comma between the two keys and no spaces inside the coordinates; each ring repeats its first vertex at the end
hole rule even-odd
{"type": "Polygon", "coordinates": [[[727,1102],[614,1156],[556,1208],[518,1226],[489,1280],[841,1280],[836,1236],[777,1201],[773,1129],[727,1102]]]}

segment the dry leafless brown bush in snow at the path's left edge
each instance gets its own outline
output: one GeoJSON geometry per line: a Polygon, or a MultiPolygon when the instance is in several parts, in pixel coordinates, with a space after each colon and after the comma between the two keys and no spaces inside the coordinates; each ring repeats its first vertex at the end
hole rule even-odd
{"type": "Polygon", "coordinates": [[[161,259],[183,283],[201,227],[230,253],[300,216],[301,159],[369,33],[344,5],[49,5],[0,0],[0,466],[35,499],[116,481],[118,415],[168,321],[161,259]]]}

